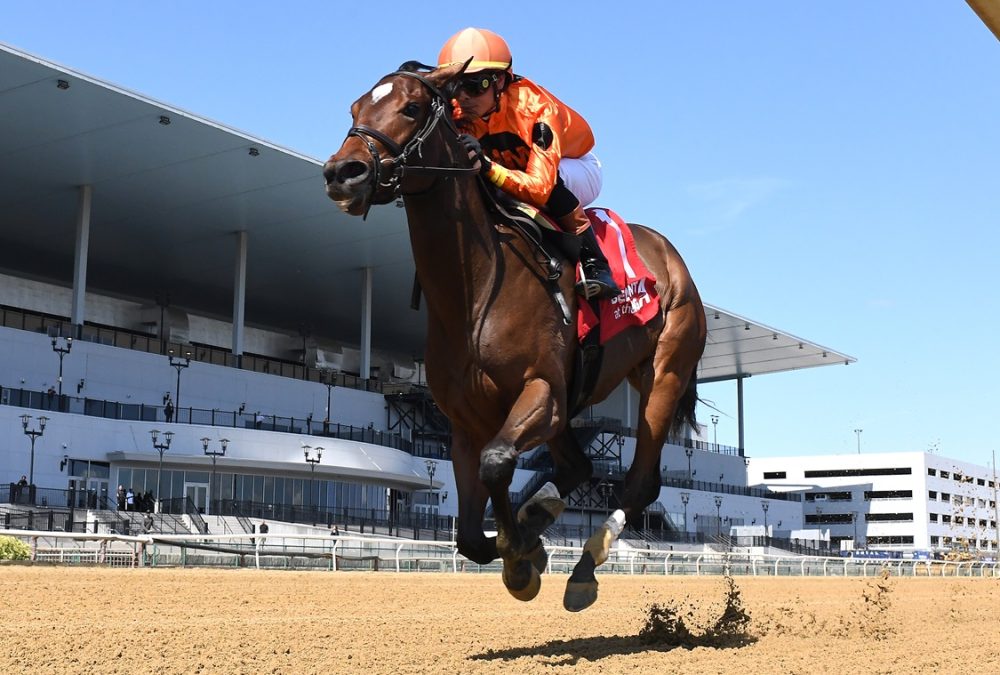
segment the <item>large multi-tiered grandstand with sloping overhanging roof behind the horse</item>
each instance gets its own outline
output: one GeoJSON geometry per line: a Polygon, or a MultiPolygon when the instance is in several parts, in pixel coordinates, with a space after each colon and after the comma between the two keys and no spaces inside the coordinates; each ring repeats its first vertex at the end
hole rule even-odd
{"type": "MultiPolygon", "coordinates": [[[[423,381],[402,211],[362,225],[325,197],[319,161],[2,44],[0,97],[5,529],[204,546],[266,520],[450,538],[449,428],[423,381]],[[154,507],[151,533],[118,486],[154,507]]],[[[736,386],[738,445],[670,439],[659,499],[626,538],[822,552],[801,495],[747,480],[742,383],[853,359],[706,311],[698,376],[736,386]]],[[[558,545],[617,506],[632,396],[575,422],[595,473],[548,533],[558,545]]],[[[548,468],[526,453],[515,497],[548,468]]]]}

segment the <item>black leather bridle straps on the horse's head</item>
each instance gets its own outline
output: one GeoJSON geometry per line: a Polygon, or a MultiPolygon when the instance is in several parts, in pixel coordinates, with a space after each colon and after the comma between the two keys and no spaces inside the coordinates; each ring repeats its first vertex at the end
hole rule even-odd
{"type": "Polygon", "coordinates": [[[373,129],[372,127],[365,126],[363,124],[358,124],[348,130],[347,137],[350,138],[351,136],[355,136],[361,139],[365,145],[368,146],[368,152],[371,153],[372,156],[374,175],[372,176],[371,189],[365,196],[365,212],[363,214],[363,218],[368,217],[368,209],[371,208],[372,199],[374,199],[375,193],[378,190],[382,188],[389,188],[392,190],[392,193],[396,198],[401,196],[401,183],[406,174],[461,176],[475,174],[479,171],[478,169],[474,169],[472,167],[424,166],[408,163],[414,155],[423,159],[423,144],[442,120],[444,121],[445,126],[454,132],[456,137],[458,136],[458,130],[455,128],[455,124],[452,122],[451,116],[447,114],[449,111],[449,107],[446,102],[447,98],[440,89],[438,89],[426,77],[417,72],[397,70],[390,73],[389,77],[397,75],[402,77],[411,77],[423,84],[431,92],[433,96],[431,99],[431,113],[427,116],[426,121],[424,121],[424,126],[420,128],[420,131],[414,134],[414,136],[402,146],[378,129],[373,129]],[[386,150],[389,151],[391,159],[383,159],[378,148],[375,147],[374,141],[378,141],[386,150]],[[383,163],[387,164],[387,166],[383,167],[383,163]]]}

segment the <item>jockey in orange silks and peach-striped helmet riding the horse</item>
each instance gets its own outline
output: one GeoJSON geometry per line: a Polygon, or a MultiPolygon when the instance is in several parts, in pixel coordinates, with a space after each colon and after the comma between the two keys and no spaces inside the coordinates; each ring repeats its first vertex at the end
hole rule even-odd
{"type": "Polygon", "coordinates": [[[594,134],[572,108],[526,77],[515,75],[502,37],[466,28],[441,48],[438,67],[472,58],[458,85],[455,111],[469,158],[483,175],[516,199],[548,214],[578,236],[586,298],[619,293],[583,205],[601,191],[601,163],[591,152],[594,134]],[[582,203],[582,204],[581,204],[582,203]]]}

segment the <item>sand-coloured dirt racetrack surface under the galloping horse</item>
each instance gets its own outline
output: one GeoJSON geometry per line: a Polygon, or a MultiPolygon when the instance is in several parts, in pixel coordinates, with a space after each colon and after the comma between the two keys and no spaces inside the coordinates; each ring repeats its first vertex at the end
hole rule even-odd
{"type": "Polygon", "coordinates": [[[565,578],[2,566],[0,673],[1000,672],[1000,580],[565,578]]]}

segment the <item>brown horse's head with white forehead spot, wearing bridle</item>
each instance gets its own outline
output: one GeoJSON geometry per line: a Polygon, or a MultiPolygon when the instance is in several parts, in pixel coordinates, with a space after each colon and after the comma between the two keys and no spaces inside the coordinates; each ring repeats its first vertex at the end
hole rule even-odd
{"type": "Polygon", "coordinates": [[[351,215],[395,199],[412,157],[420,157],[421,164],[441,161],[429,155],[424,142],[439,123],[451,126],[444,92],[465,66],[418,72],[406,65],[354,102],[347,138],[323,166],[327,195],[351,215]]]}

